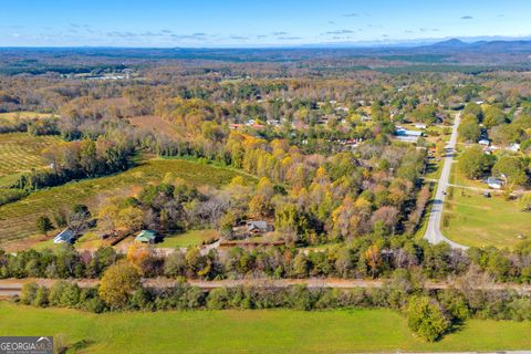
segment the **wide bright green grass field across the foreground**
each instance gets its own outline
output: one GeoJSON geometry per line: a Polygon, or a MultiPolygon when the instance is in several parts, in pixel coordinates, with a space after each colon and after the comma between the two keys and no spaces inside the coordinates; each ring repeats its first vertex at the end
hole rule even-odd
{"type": "Polygon", "coordinates": [[[0,303],[0,335],[54,335],[77,353],[353,353],[531,348],[531,323],[468,321],[425,343],[391,310],[92,314],[0,303]]]}

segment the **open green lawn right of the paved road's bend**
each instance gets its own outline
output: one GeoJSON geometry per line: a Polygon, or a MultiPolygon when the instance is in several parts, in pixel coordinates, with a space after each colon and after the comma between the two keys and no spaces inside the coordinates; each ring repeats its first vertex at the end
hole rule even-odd
{"type": "Polygon", "coordinates": [[[531,238],[531,214],[502,196],[485,198],[480,191],[454,188],[445,215],[450,216],[448,226],[442,221],[445,236],[466,246],[512,248],[521,241],[519,236],[531,238]]]}

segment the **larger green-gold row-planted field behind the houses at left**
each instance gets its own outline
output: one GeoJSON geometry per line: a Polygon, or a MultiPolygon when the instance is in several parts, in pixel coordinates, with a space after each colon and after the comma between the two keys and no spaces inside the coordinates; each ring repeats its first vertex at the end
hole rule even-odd
{"type": "MultiPolygon", "coordinates": [[[[41,215],[70,209],[74,204],[95,208],[100,200],[113,195],[134,195],[142,186],[160,181],[167,173],[195,185],[222,186],[239,173],[180,159],[149,159],[127,171],[113,176],[69,183],[32,192],[28,197],[0,207],[0,244],[35,236],[35,221],[41,215]]],[[[244,175],[241,175],[244,176],[244,175]]],[[[248,178],[249,179],[249,178],[248,178]]],[[[32,243],[32,242],[30,242],[32,243]]]]}

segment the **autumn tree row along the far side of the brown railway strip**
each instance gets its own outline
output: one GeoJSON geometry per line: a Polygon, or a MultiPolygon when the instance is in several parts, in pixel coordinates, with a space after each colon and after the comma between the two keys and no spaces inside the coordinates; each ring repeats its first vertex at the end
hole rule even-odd
{"type": "Polygon", "coordinates": [[[204,254],[199,248],[160,256],[149,247],[135,246],[127,254],[111,247],[95,252],[79,252],[63,244],[55,250],[28,250],[0,253],[1,278],[98,279],[105,269],[121,259],[135,264],[143,277],[187,279],[386,279],[396,270],[419,273],[430,280],[459,278],[478,271],[496,282],[531,282],[531,247],[522,242],[513,252],[496,248],[470,248],[467,252],[447,244],[428,244],[404,238],[361,238],[345,247],[306,251],[293,247],[261,250],[230,248],[204,254]]]}

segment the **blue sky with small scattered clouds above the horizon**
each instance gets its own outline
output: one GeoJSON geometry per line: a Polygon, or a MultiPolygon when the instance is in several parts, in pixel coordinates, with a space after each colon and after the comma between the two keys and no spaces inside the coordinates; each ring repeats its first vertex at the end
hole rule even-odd
{"type": "Polygon", "coordinates": [[[0,46],[374,45],[531,38],[529,0],[0,0],[0,46]]]}

